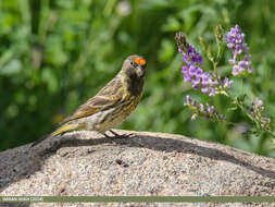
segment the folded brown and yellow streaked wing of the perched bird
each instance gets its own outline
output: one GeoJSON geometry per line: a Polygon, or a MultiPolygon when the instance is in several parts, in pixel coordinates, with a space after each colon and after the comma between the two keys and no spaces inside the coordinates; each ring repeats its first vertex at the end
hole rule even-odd
{"type": "Polygon", "coordinates": [[[115,77],[109,82],[96,96],[79,106],[76,111],[65,118],[62,123],[85,118],[112,107],[115,107],[123,99],[123,85],[120,78],[115,77]]]}

